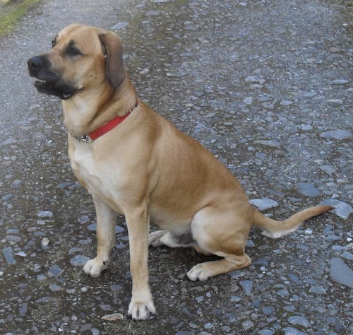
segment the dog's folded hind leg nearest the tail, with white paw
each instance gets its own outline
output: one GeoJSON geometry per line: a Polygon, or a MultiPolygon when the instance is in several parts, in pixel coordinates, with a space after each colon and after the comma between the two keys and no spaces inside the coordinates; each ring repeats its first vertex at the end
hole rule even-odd
{"type": "Polygon", "coordinates": [[[187,273],[192,281],[204,281],[251,264],[251,259],[244,252],[251,225],[237,223],[237,217],[232,214],[215,208],[204,208],[194,217],[191,230],[198,245],[206,252],[224,259],[193,266],[187,273]]]}

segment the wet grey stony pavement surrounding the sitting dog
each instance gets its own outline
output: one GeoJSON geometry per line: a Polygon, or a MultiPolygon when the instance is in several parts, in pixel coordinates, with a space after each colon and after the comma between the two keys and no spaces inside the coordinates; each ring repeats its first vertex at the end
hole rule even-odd
{"type": "Polygon", "coordinates": [[[44,1],[1,37],[0,334],[352,334],[352,22],[352,1],[44,1]],[[285,218],[328,201],[335,213],[280,240],[252,230],[253,264],[205,282],[186,272],[209,257],[150,249],[157,315],[128,319],[124,218],[109,269],[85,276],[95,210],[60,102],[26,69],[73,22],[122,37],[140,98],[225,163],[254,206],[285,218]]]}

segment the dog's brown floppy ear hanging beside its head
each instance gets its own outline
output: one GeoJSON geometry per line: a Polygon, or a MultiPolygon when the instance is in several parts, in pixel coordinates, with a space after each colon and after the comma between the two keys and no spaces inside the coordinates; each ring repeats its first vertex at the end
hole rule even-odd
{"type": "Polygon", "coordinates": [[[120,86],[126,76],[123,62],[123,44],[120,37],[112,32],[100,34],[99,37],[106,58],[105,73],[110,85],[116,88],[120,86]]]}

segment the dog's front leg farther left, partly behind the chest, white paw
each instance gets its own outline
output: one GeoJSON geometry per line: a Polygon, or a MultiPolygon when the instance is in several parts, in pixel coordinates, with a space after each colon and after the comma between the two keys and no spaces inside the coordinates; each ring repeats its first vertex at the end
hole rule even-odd
{"type": "Polygon", "coordinates": [[[107,269],[110,252],[115,243],[116,212],[96,196],[92,196],[97,213],[97,256],[83,266],[85,274],[99,277],[107,269]]]}

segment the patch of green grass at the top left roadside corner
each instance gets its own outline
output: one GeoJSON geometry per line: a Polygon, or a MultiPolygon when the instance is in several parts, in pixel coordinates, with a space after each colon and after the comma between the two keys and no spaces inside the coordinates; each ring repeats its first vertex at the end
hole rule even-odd
{"type": "Polygon", "coordinates": [[[0,2],[0,36],[4,36],[16,27],[18,20],[24,16],[28,9],[40,0],[0,2]]]}

